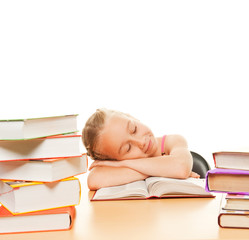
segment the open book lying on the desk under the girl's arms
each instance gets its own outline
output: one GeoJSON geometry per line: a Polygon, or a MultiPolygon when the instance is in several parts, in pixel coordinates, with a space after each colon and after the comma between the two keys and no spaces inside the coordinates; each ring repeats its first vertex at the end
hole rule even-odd
{"type": "Polygon", "coordinates": [[[214,197],[205,191],[205,179],[173,179],[149,177],[120,186],[106,187],[97,190],[91,199],[148,199],[169,197],[214,197]]]}

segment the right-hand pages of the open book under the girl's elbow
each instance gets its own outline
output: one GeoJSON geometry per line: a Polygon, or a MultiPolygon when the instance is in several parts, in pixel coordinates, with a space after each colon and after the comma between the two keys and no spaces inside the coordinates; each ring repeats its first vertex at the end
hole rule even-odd
{"type": "Polygon", "coordinates": [[[211,195],[205,191],[205,179],[150,177],[146,179],[146,184],[151,196],[211,195]]]}

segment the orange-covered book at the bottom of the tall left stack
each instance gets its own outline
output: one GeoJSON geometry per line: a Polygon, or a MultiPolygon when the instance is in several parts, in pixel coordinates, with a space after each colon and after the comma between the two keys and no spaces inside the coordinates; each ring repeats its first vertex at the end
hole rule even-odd
{"type": "Polygon", "coordinates": [[[0,234],[68,230],[74,218],[75,207],[13,215],[0,206],[0,234]]]}

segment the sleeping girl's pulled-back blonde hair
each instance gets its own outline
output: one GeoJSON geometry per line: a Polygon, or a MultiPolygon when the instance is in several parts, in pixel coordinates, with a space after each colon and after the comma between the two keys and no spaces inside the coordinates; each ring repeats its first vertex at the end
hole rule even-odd
{"type": "Polygon", "coordinates": [[[94,114],[87,120],[85,127],[82,131],[82,141],[87,150],[87,155],[94,160],[105,160],[110,157],[96,152],[96,145],[101,131],[104,128],[105,121],[108,115],[116,111],[108,110],[105,108],[97,109],[94,114]]]}

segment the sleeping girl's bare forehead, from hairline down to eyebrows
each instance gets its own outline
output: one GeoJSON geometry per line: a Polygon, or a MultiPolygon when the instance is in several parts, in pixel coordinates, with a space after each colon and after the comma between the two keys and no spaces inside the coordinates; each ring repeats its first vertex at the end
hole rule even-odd
{"type": "Polygon", "coordinates": [[[97,147],[101,154],[118,159],[119,148],[127,137],[127,127],[131,119],[122,114],[112,114],[106,119],[97,147]]]}

